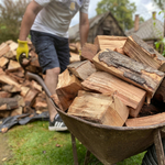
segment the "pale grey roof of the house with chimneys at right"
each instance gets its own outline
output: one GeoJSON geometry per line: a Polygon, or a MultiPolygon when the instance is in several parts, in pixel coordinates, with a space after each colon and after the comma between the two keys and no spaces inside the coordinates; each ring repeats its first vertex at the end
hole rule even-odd
{"type": "Polygon", "coordinates": [[[139,25],[139,30],[134,32],[134,28],[125,32],[128,36],[132,34],[136,34],[139,37],[141,37],[144,41],[147,40],[157,40],[161,36],[163,36],[164,32],[164,24],[160,20],[150,19],[139,25]]]}

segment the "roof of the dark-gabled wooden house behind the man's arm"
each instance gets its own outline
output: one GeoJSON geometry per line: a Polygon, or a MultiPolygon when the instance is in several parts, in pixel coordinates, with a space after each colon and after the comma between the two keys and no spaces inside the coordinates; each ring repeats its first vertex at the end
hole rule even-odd
{"type": "MultiPolygon", "coordinates": [[[[118,21],[114,19],[114,16],[111,14],[111,12],[107,12],[107,13],[99,14],[99,15],[96,15],[96,16],[89,19],[89,29],[91,29],[96,24],[102,22],[109,14],[113,18],[113,20],[120,28],[118,21]]],[[[121,28],[120,28],[120,30],[123,32],[123,30],[121,28]]],[[[76,24],[76,25],[69,28],[68,33],[69,33],[70,40],[75,40],[75,41],[79,40],[79,24],[76,24]]],[[[123,32],[123,34],[124,34],[124,32],[123,32]]]]}

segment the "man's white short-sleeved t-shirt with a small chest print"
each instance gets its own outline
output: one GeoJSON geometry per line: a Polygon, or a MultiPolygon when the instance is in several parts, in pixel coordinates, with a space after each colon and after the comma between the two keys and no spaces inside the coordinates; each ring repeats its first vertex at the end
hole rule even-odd
{"type": "Polygon", "coordinates": [[[44,7],[31,30],[68,37],[68,29],[74,15],[80,11],[88,13],[89,0],[35,0],[44,7]]]}

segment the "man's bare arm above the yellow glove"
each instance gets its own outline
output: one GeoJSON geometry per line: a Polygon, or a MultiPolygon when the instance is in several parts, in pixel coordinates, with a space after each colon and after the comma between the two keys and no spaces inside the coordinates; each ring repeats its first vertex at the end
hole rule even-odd
{"type": "Polygon", "coordinates": [[[34,0],[30,2],[28,6],[22,23],[21,23],[21,31],[20,31],[20,41],[26,41],[26,37],[30,33],[31,26],[37,15],[37,13],[42,10],[42,6],[36,3],[34,0]]]}

